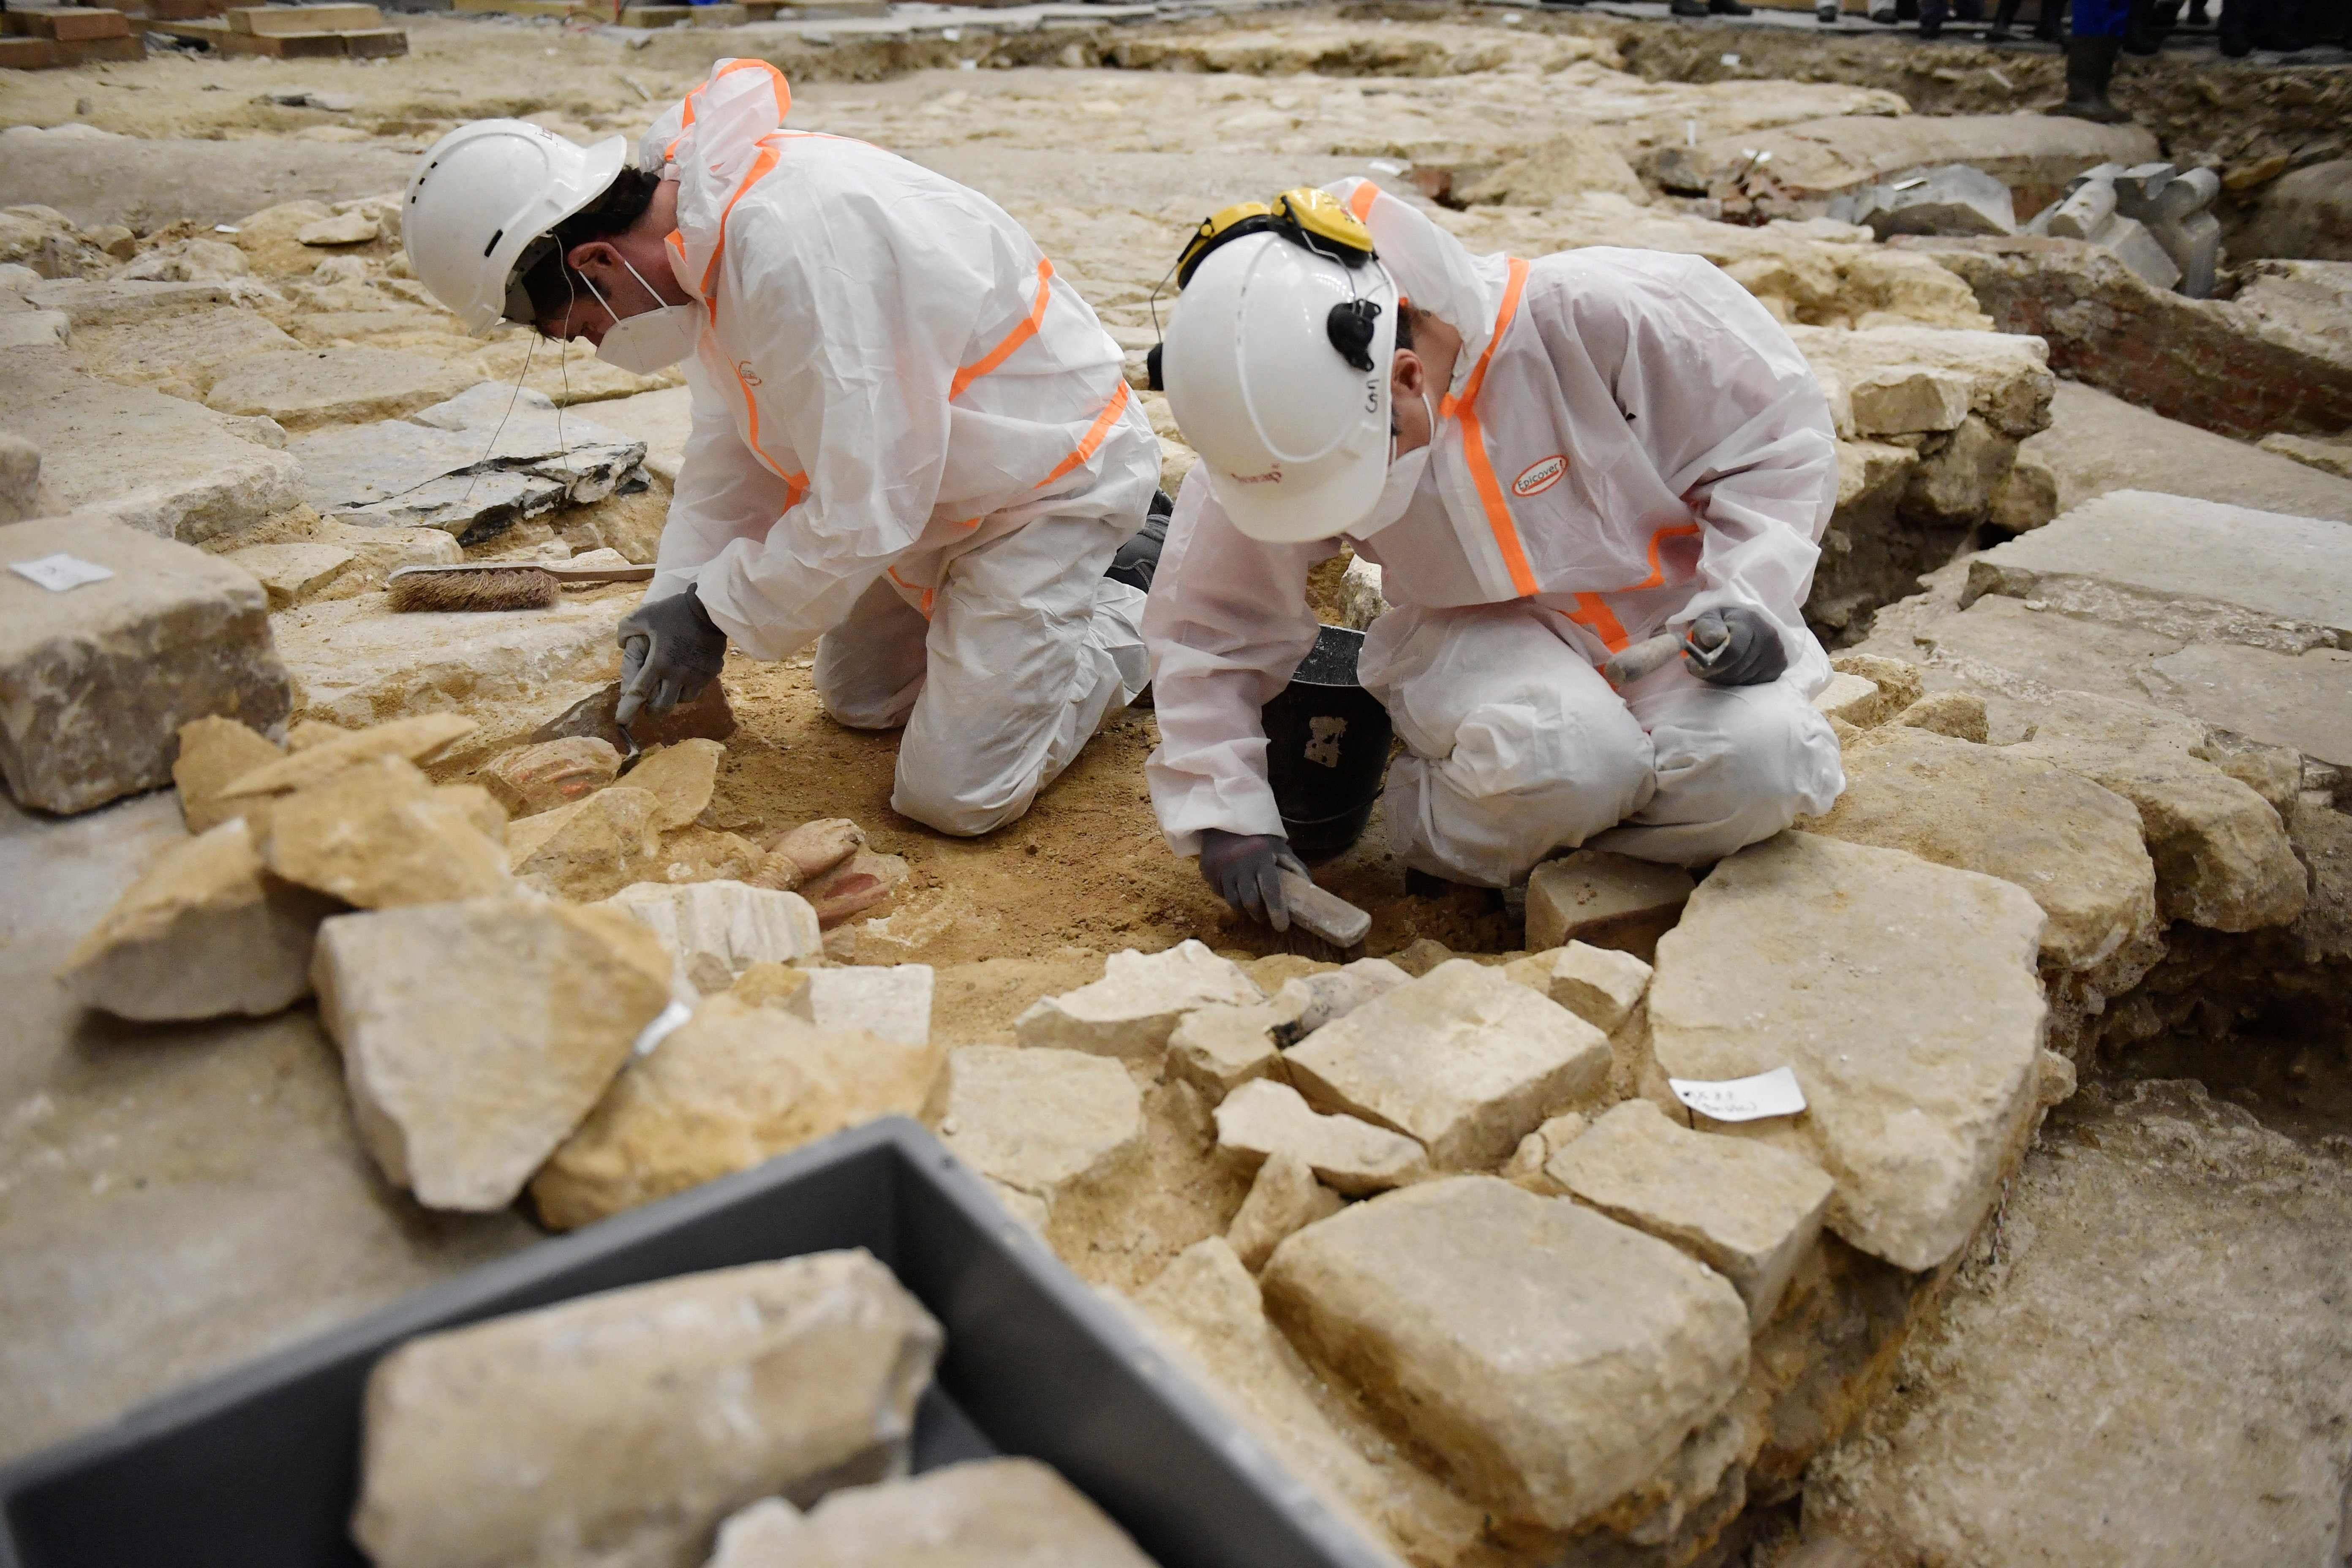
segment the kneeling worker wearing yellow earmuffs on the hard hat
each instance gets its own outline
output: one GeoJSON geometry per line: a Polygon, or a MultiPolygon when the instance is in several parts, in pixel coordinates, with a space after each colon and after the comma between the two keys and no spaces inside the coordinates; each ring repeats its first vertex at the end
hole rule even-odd
{"type": "Polygon", "coordinates": [[[1696,865],[1844,788],[1799,607],[1837,498],[1828,400],[1693,256],[1472,256],[1367,181],[1228,209],[1178,268],[1169,407],[1200,451],[1152,583],[1152,804],[1235,907],[1296,867],[1258,708],[1345,541],[1395,609],[1359,679],[1404,755],[1409,870],[1510,886],[1590,844],[1696,865]],[[1682,656],[1611,686],[1658,632],[1682,656]]]}

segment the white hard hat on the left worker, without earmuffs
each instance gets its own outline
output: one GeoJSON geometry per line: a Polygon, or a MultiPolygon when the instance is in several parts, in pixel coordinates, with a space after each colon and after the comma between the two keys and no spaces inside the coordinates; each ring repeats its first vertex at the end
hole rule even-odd
{"type": "Polygon", "coordinates": [[[466,331],[532,320],[515,282],[522,252],[604,195],[628,162],[628,136],[593,148],[527,120],[461,125],[423,155],[400,214],[409,268],[466,331]]]}

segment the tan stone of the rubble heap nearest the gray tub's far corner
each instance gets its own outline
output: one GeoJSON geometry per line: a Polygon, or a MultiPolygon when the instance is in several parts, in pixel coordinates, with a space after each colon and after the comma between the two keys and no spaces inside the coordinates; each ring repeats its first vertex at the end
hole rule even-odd
{"type": "Polygon", "coordinates": [[[931,1103],[941,1051],[826,1030],[783,1009],[710,997],[621,1070],[532,1178],[539,1218],[574,1229],[875,1117],[931,1103]]]}

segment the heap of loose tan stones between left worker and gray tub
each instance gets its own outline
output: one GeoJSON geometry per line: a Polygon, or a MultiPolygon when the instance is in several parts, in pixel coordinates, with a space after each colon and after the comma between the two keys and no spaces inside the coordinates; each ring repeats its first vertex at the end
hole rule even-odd
{"type": "Polygon", "coordinates": [[[508,820],[487,788],[421,766],[473,731],[456,715],[303,724],[280,748],[186,724],[167,766],[195,837],[89,931],[68,992],[169,1023],[315,990],[393,1185],[461,1211],[529,1185],[557,1227],[946,1093],[927,966],[811,973],[828,912],[870,907],[903,872],[854,823],[769,849],[701,827],[722,757],[703,738],[649,750],[626,780],[562,773],[569,802],[529,788],[546,783],[529,755],[501,757],[487,776],[527,809],[508,820]],[[816,900],[746,882],[760,875],[816,900]]]}

